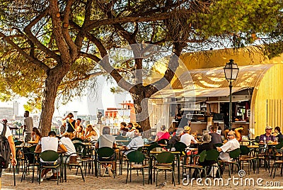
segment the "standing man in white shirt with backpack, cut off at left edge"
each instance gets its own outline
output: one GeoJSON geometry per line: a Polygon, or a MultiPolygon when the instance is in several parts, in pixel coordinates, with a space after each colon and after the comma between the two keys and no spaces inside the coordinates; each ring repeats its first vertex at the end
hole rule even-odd
{"type": "MultiPolygon", "coordinates": [[[[7,123],[8,123],[8,121],[6,119],[2,120],[2,124],[3,125],[0,125],[0,134],[3,132],[4,125],[5,125],[6,126],[6,133],[3,134],[3,135],[5,135],[5,137],[8,139],[8,143],[10,145],[10,149],[11,149],[11,153],[12,153],[11,164],[14,166],[14,165],[17,164],[17,160],[16,160],[16,147],[15,147],[15,143],[13,143],[13,135],[11,133],[11,130],[6,125],[7,123]]],[[[0,168],[0,189],[1,189],[1,177],[2,177],[2,169],[0,168]]]]}

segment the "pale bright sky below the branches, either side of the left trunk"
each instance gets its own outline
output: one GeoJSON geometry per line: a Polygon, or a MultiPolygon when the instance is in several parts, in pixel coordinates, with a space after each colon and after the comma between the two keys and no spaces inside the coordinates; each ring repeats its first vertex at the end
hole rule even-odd
{"type": "MultiPolygon", "coordinates": [[[[131,101],[132,98],[129,93],[125,92],[122,94],[112,94],[110,92],[110,87],[115,86],[115,84],[108,84],[105,82],[103,77],[98,77],[98,89],[96,96],[82,96],[74,99],[74,101],[69,102],[67,105],[55,105],[54,116],[64,116],[65,113],[78,111],[78,115],[96,115],[98,109],[107,108],[121,108],[120,104],[123,101],[131,101]]],[[[24,108],[23,105],[26,99],[15,99],[19,103],[19,115],[23,115],[24,108]]],[[[13,106],[13,102],[0,102],[0,106],[13,106]]]]}

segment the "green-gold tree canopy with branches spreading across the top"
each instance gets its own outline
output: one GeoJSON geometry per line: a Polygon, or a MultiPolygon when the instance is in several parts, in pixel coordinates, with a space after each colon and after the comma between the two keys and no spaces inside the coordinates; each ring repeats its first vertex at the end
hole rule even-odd
{"type": "MultiPolygon", "coordinates": [[[[0,0],[1,36],[14,43],[0,38],[2,101],[25,96],[26,109],[40,110],[46,81],[57,71],[66,71],[57,87],[58,101],[67,103],[86,94],[86,88],[95,92],[96,78],[91,74],[105,69],[99,65],[105,52],[134,43],[161,45],[178,55],[184,47],[192,52],[265,45],[262,51],[269,57],[283,51],[281,1],[102,0],[73,1],[67,6],[68,2],[0,0]]],[[[122,53],[112,55],[111,66],[119,75],[107,77],[123,77],[134,84],[136,70],[141,69],[141,79],[146,79],[159,60],[156,57],[139,62],[122,53]]]]}

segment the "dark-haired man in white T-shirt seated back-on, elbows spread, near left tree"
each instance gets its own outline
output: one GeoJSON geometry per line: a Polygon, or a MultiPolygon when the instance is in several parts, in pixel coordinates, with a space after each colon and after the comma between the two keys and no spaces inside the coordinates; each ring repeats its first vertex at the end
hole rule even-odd
{"type": "MultiPolygon", "coordinates": [[[[63,152],[67,152],[67,147],[65,147],[61,141],[58,140],[56,137],[56,133],[54,131],[50,131],[48,133],[48,137],[41,138],[38,145],[35,147],[35,152],[44,152],[45,150],[54,150],[57,152],[58,148],[60,148],[63,152]]],[[[61,160],[58,159],[57,162],[60,162],[61,160]]],[[[50,164],[49,162],[44,162],[43,160],[40,160],[42,164],[50,164]]],[[[49,172],[50,169],[44,169],[42,170],[41,174],[41,181],[43,181],[43,177],[47,172],[49,172]]]]}

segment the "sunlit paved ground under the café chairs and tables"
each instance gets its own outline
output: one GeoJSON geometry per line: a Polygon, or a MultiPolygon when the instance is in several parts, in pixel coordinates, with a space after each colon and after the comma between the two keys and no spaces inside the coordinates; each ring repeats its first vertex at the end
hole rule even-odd
{"type": "MultiPolygon", "coordinates": [[[[246,167],[247,169],[247,167],[246,167]]],[[[147,172],[146,172],[147,174],[147,172]]],[[[50,174],[48,174],[50,175],[50,174]]],[[[174,187],[173,184],[171,184],[171,174],[167,174],[168,178],[167,180],[164,179],[164,174],[161,174],[160,177],[158,176],[158,184],[161,184],[162,182],[166,181],[166,186],[164,187],[156,187],[155,184],[147,184],[148,177],[146,176],[146,184],[145,186],[142,186],[142,175],[139,174],[137,177],[136,172],[133,172],[132,174],[132,182],[128,182],[128,184],[125,184],[126,180],[126,172],[124,170],[122,175],[118,175],[113,179],[113,177],[94,177],[93,174],[87,174],[86,175],[86,181],[83,181],[81,179],[81,176],[75,175],[75,169],[72,169],[71,171],[68,171],[68,181],[67,183],[59,183],[57,185],[56,181],[43,181],[40,185],[38,182],[31,183],[31,175],[26,177],[26,179],[21,182],[21,172],[20,174],[16,174],[16,186],[13,186],[13,173],[12,172],[4,172],[2,176],[2,189],[283,189],[283,177],[279,175],[279,171],[277,172],[277,176],[275,179],[270,177],[270,174],[265,172],[264,168],[260,169],[260,174],[250,174],[248,175],[248,172],[245,177],[242,179],[234,179],[234,182],[229,181],[229,185],[223,185],[214,186],[213,179],[207,179],[207,183],[212,180],[212,185],[208,186],[198,186],[196,181],[194,181],[193,186],[191,184],[183,185],[182,182],[180,185],[176,183],[176,186],[174,187]],[[245,181],[248,179],[253,178],[255,181],[255,185],[251,186],[247,182],[248,185],[245,186],[245,181]],[[259,178],[262,178],[262,181],[259,184],[257,184],[257,180],[260,180],[259,178]],[[279,184],[276,184],[277,181],[279,181],[279,184]],[[241,185],[243,184],[243,185],[241,185]],[[262,185],[260,185],[262,184],[262,185]],[[269,184],[273,184],[273,186],[270,186],[269,184]],[[267,186],[268,185],[268,186],[267,186]],[[274,186],[276,185],[276,186],[274,186]]],[[[232,175],[234,178],[238,178],[238,174],[232,175]]],[[[177,174],[175,175],[176,181],[177,181],[177,174]]],[[[227,183],[227,179],[229,178],[228,172],[224,172],[224,184],[227,183]]],[[[182,179],[181,179],[182,181],[182,179]]],[[[184,181],[187,183],[187,181],[184,181]]],[[[204,184],[204,182],[202,182],[204,184]]]]}

